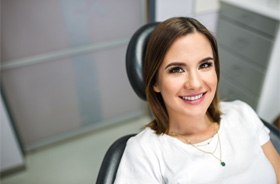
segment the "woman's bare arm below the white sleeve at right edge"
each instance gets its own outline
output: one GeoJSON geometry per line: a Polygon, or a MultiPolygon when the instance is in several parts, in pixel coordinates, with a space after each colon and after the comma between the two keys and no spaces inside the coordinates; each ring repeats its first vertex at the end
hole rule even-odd
{"type": "Polygon", "coordinates": [[[275,170],[277,183],[280,184],[280,155],[276,151],[271,141],[268,141],[262,145],[262,149],[275,170]]]}

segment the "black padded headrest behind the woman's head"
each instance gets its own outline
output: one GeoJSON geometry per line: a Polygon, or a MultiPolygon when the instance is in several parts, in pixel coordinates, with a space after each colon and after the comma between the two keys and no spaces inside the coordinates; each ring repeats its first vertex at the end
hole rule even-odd
{"type": "Polygon", "coordinates": [[[142,100],[146,100],[143,63],[146,46],[151,32],[158,23],[150,23],[140,27],[132,36],[126,50],[126,72],[129,82],[142,100]]]}

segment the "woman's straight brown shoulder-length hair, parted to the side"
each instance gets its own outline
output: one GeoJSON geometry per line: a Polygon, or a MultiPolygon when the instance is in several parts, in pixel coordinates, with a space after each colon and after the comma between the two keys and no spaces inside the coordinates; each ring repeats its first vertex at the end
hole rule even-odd
{"type": "MultiPolygon", "coordinates": [[[[163,98],[160,93],[156,93],[153,89],[157,80],[159,68],[174,41],[194,32],[202,33],[211,44],[215,70],[219,83],[220,66],[217,43],[215,37],[207,30],[207,28],[199,21],[187,17],[174,17],[159,23],[151,33],[148,41],[143,72],[147,101],[155,118],[148,124],[148,126],[155,130],[157,134],[167,133],[169,129],[169,117],[163,98]]],[[[214,99],[207,110],[207,114],[212,121],[220,123],[221,112],[217,89],[214,99]]]]}

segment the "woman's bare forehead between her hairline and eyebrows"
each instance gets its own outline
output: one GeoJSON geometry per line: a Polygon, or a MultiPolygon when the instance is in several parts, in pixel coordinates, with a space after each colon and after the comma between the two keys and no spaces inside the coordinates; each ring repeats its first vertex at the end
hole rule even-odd
{"type": "Polygon", "coordinates": [[[163,63],[172,61],[199,61],[205,57],[213,57],[213,50],[208,38],[194,32],[177,38],[165,54],[163,63]]]}

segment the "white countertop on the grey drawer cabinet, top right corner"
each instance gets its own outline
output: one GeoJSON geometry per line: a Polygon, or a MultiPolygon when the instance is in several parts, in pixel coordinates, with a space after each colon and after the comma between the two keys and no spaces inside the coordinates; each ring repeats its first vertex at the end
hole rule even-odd
{"type": "Polygon", "coordinates": [[[221,0],[280,21],[280,0],[221,0]]]}

